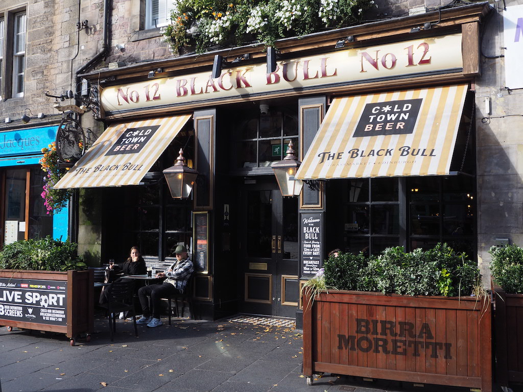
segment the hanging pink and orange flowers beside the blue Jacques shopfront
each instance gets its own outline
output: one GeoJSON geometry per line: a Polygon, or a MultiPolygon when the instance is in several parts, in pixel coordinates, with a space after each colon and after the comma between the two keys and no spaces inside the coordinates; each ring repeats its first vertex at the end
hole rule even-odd
{"type": "Polygon", "coordinates": [[[44,205],[49,215],[67,206],[71,191],[68,189],[54,189],[53,187],[70,168],[62,168],[60,166],[55,142],[49,144],[48,147],[42,148],[42,153],[43,157],[40,159],[40,165],[42,170],[46,172],[46,176],[43,178],[45,184],[41,195],[45,199],[44,205]]]}

